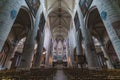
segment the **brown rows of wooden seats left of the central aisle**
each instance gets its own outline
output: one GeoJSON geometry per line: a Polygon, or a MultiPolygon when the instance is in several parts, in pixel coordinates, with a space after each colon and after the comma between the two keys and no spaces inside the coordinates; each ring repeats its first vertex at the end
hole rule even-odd
{"type": "Polygon", "coordinates": [[[0,80],[52,80],[55,71],[54,68],[4,70],[0,71],[0,80]]]}

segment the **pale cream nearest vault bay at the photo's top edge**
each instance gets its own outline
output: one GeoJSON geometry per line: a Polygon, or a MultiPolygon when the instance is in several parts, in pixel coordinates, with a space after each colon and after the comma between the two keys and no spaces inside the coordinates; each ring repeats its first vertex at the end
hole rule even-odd
{"type": "Polygon", "coordinates": [[[58,8],[63,8],[65,11],[72,13],[75,6],[75,0],[45,0],[45,7],[48,14],[58,8]]]}

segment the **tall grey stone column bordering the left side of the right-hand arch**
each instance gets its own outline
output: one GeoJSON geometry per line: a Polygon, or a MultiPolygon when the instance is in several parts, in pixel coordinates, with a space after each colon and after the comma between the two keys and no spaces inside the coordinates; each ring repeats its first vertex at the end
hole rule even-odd
{"type": "Polygon", "coordinates": [[[97,59],[97,55],[95,53],[95,49],[93,47],[93,42],[91,41],[91,38],[88,35],[88,30],[85,27],[85,23],[84,23],[84,18],[81,12],[81,9],[78,8],[78,17],[79,17],[79,21],[80,21],[80,28],[81,28],[81,32],[82,32],[82,36],[83,36],[83,40],[84,40],[84,46],[85,46],[85,56],[87,59],[87,63],[88,63],[88,68],[98,68],[99,63],[98,63],[98,59],[97,59]]]}

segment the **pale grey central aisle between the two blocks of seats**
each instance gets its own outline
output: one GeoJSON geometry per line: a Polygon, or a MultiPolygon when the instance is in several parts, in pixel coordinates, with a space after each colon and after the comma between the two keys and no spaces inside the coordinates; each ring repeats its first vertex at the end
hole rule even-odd
{"type": "Polygon", "coordinates": [[[54,80],[67,80],[67,76],[65,75],[65,73],[63,72],[62,65],[58,65],[57,67],[57,72],[54,76],[54,80]]]}

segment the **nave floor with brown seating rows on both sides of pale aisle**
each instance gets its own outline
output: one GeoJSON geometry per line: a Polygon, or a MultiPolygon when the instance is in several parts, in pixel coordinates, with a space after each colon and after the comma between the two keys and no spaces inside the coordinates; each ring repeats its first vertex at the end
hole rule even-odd
{"type": "Polygon", "coordinates": [[[2,70],[0,80],[120,80],[120,70],[65,68],[38,68],[30,70],[2,70]]]}

